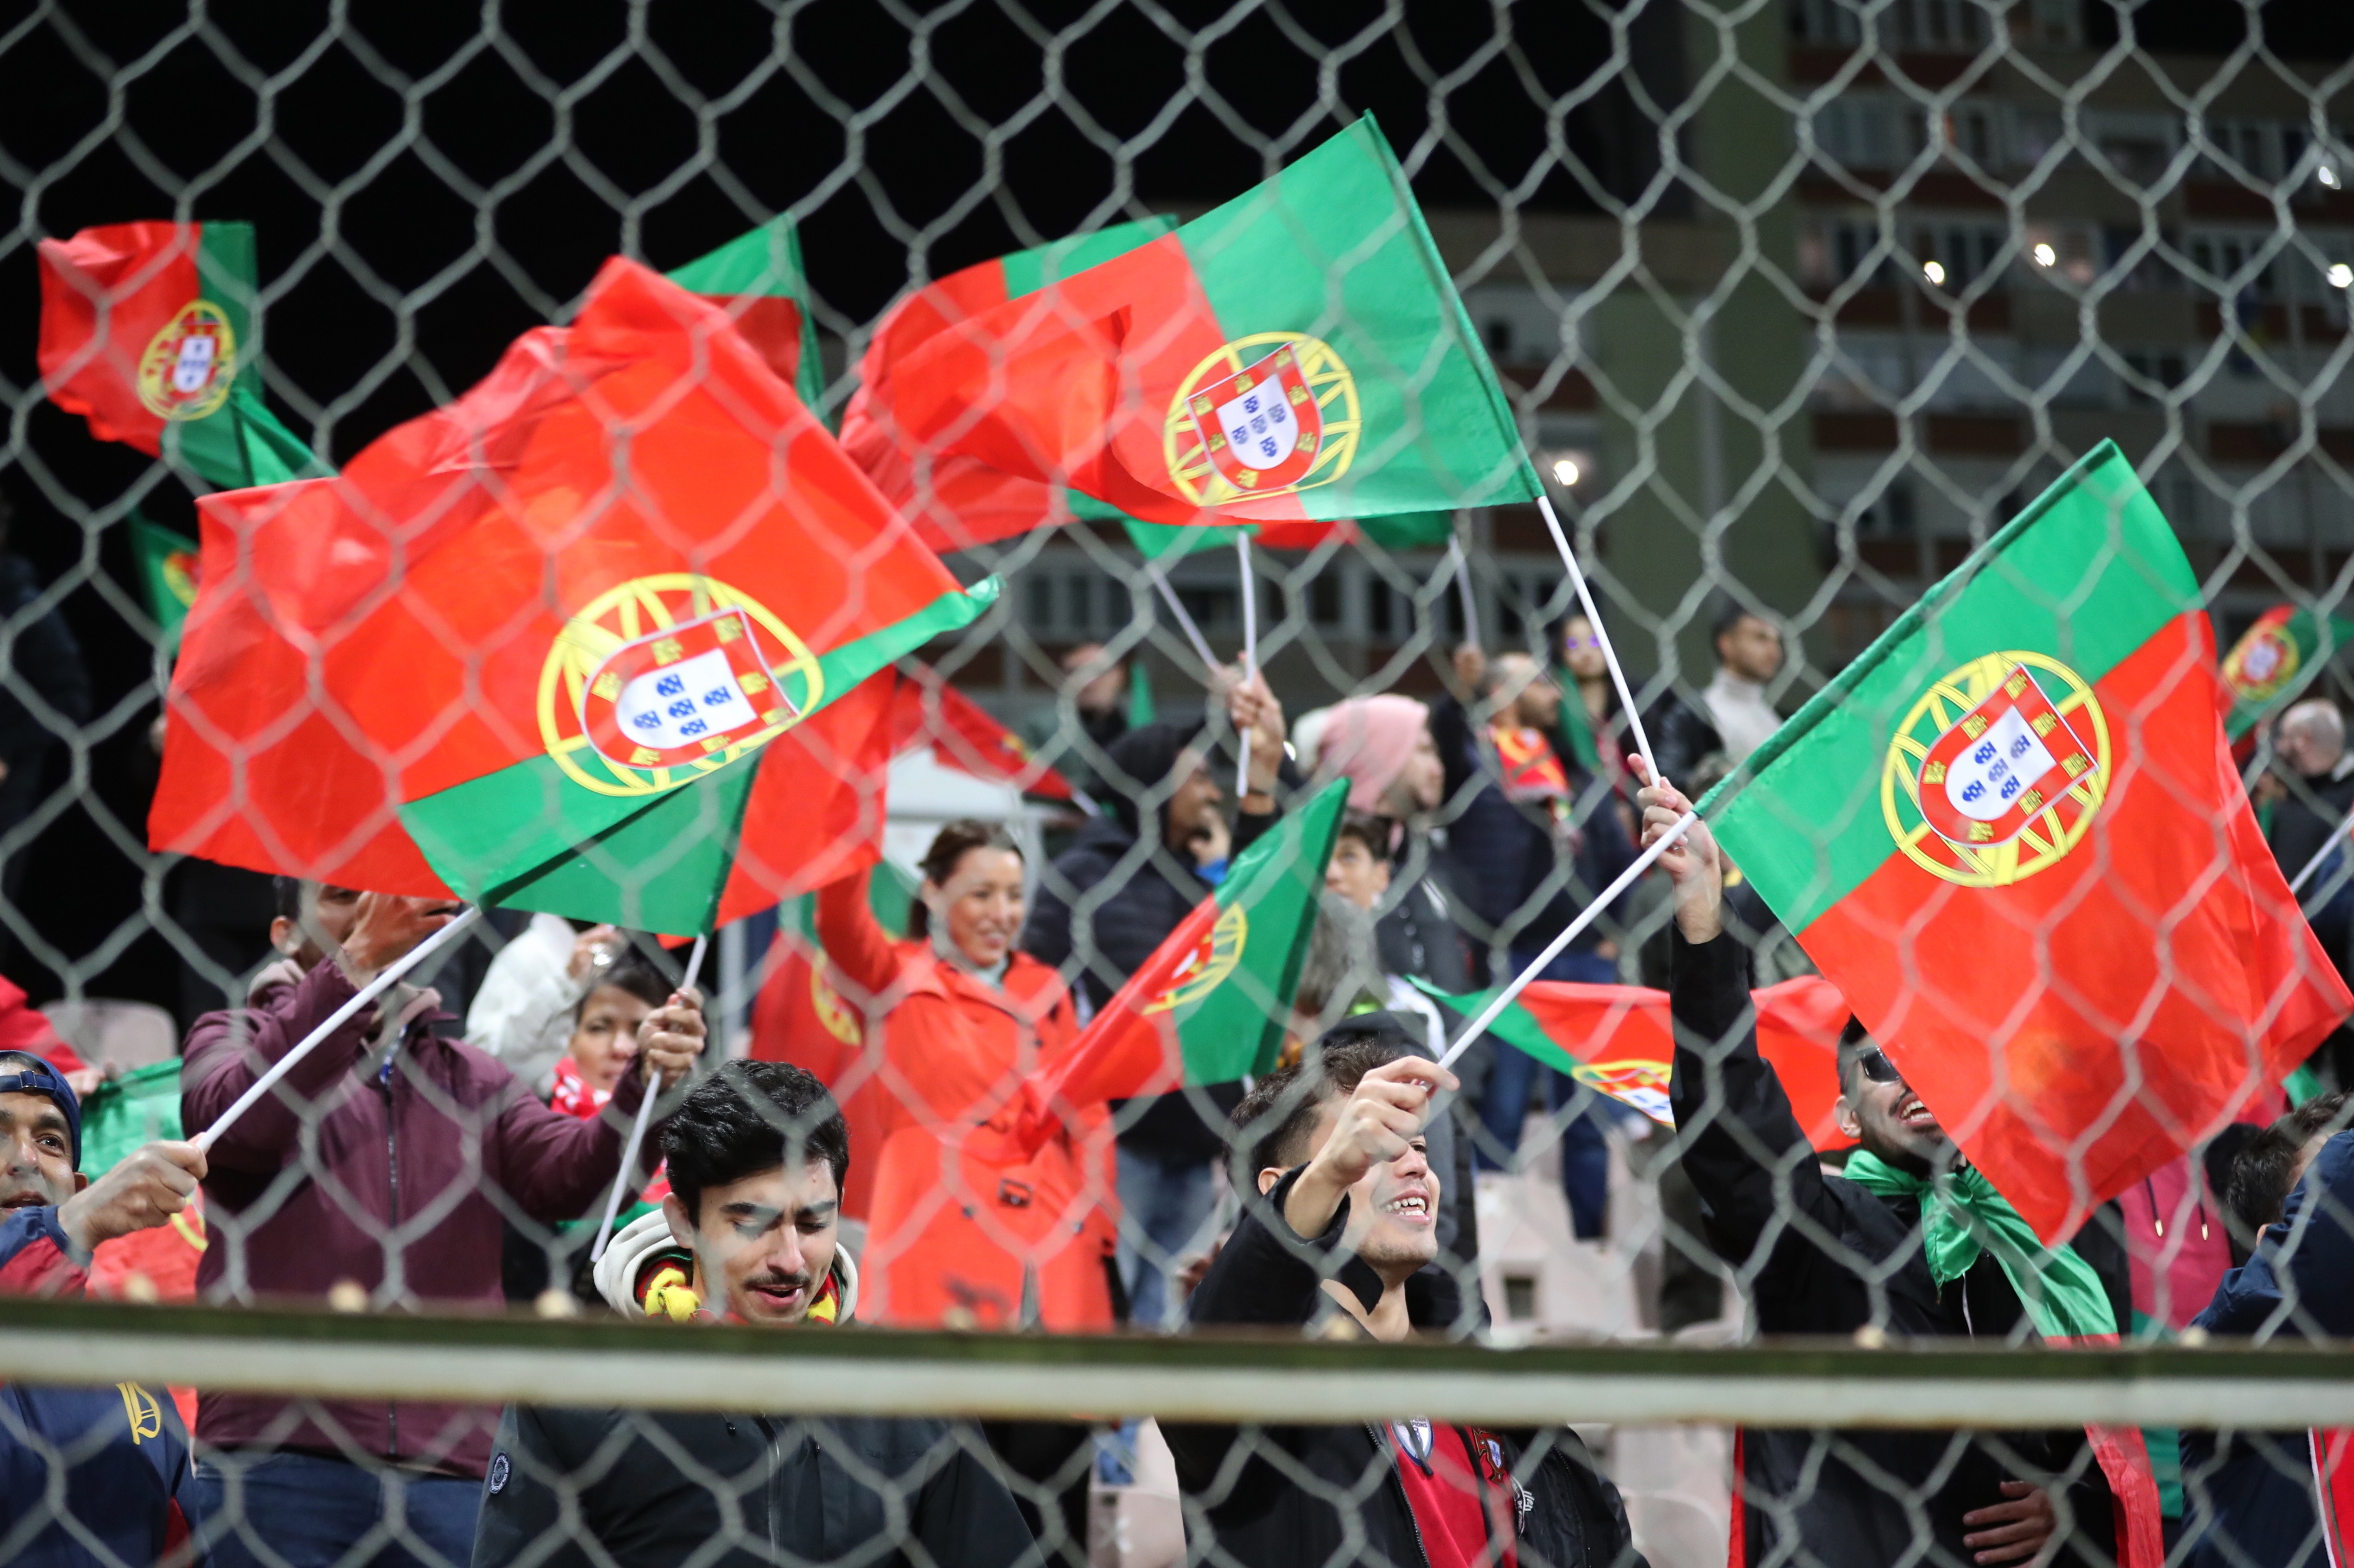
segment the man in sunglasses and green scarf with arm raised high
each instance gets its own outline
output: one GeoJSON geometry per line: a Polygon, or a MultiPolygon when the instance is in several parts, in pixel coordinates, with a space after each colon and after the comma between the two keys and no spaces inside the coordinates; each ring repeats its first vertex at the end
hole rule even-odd
{"type": "MultiPolygon", "coordinates": [[[[1634,768],[1641,772],[1641,758],[1634,768]]],[[[1641,793],[1643,843],[1688,800],[1674,786],[1641,793]]],[[[1723,862],[1707,826],[1660,857],[1674,883],[1674,1107],[1683,1168],[1700,1191],[1707,1241],[1740,1271],[1768,1335],[1982,1337],[2034,1342],[2020,1281],[2024,1236],[2015,1210],[1970,1170],[1895,1062],[1848,1022],[1834,1116],[1857,1147],[1824,1170],[1773,1067],[1758,1055],[1747,961],[1725,935],[1723,862]],[[1996,1236],[1996,1245],[1973,1238],[1996,1236]],[[1973,1253],[1973,1245],[1977,1250],[1973,1253]],[[2010,1260],[2006,1264],[2006,1257],[2010,1260]]],[[[2034,1260],[2029,1260],[2032,1264],[2034,1260]]],[[[2036,1311],[2053,1293],[2093,1318],[2130,1311],[2119,1241],[2095,1220],[2079,1248],[2043,1260],[2029,1283],[2036,1311]],[[2090,1260],[2086,1257],[2090,1255],[2090,1260]]],[[[2114,1333],[2114,1323],[2109,1328],[2114,1333]]],[[[1806,1559],[1824,1568],[1895,1563],[2112,1563],[2116,1497],[2104,1464],[2156,1533],[2147,1460],[2074,1431],[1742,1431],[1737,1561],[1806,1559]],[[1919,1514],[1916,1514],[1919,1509],[1919,1514]],[[1744,1552],[1747,1547],[1747,1552],[1744,1552]]]]}

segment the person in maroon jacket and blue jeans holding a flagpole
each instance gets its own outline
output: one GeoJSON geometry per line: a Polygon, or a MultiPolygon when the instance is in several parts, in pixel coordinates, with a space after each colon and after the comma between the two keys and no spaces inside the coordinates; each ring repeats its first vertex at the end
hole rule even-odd
{"type": "MultiPolygon", "coordinates": [[[[271,925],[280,963],[254,979],[250,1008],[210,1012],[188,1031],[181,1123],[210,1128],[358,986],[454,913],[445,899],[285,881],[271,925]]],[[[541,1224],[596,1212],[619,1172],[645,1074],[671,1090],[704,1045],[697,998],[673,991],[640,1029],[640,1069],[598,1118],[579,1121],[443,1034],[454,1022],[433,991],[391,986],[212,1144],[205,1300],[501,1307],[501,1212],[541,1224]]],[[[633,1180],[643,1184],[645,1172],[633,1180]]],[[[198,1483],[212,1563],[466,1563],[497,1427],[499,1410],[487,1406],[200,1391],[195,1431],[207,1453],[198,1483]]]]}

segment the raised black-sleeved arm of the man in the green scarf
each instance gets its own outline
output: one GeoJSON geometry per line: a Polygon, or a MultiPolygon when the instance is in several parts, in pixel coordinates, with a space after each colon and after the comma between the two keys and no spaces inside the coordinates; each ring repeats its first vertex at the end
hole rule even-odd
{"type": "MultiPolygon", "coordinates": [[[[1641,758],[1634,768],[1641,772],[1641,758]]],[[[1643,800],[1643,841],[1664,833],[1690,800],[1674,786],[1650,786],[1643,800]]],[[[1824,1217],[1831,1208],[1815,1149],[1806,1142],[1789,1095],[1758,1055],[1756,1005],[1749,998],[1749,954],[1723,930],[1723,859],[1707,824],[1660,857],[1674,883],[1669,1012],[1676,1024],[1676,1067],[1669,1099],[1683,1140],[1683,1170],[1709,1215],[1709,1231],[1725,1262],[1744,1267],[1787,1217],[1777,1189],[1796,1212],[1824,1217]]]]}

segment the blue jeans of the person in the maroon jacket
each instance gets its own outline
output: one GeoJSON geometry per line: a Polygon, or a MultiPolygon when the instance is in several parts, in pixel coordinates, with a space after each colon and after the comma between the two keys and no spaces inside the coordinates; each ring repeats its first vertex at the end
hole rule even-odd
{"type": "Polygon", "coordinates": [[[466,1568],[483,1511],[480,1481],[311,1453],[214,1453],[195,1486],[212,1568],[466,1568]]]}

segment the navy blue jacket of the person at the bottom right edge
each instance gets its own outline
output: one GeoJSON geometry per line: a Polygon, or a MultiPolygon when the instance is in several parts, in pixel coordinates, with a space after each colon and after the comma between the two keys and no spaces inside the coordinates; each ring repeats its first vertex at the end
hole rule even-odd
{"type": "MultiPolygon", "coordinates": [[[[2255,1257],[2196,1318],[2210,1335],[2354,1337],[2354,1132],[2321,1144],[2255,1257]]],[[[2185,1568],[2323,1568],[2305,1431],[2182,1434],[2185,1568]]]]}

